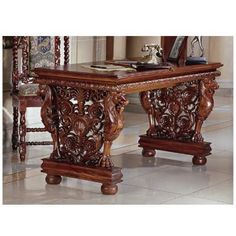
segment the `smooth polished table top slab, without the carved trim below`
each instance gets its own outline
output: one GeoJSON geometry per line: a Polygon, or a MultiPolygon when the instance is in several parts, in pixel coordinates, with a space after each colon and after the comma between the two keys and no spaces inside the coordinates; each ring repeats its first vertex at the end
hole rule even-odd
{"type": "Polygon", "coordinates": [[[60,80],[67,78],[67,81],[77,81],[77,82],[93,82],[93,83],[104,83],[118,85],[133,82],[141,82],[150,79],[158,78],[170,78],[175,76],[183,76],[187,74],[194,74],[200,72],[210,72],[215,71],[217,68],[221,67],[221,63],[208,63],[204,65],[188,65],[188,66],[175,66],[172,70],[151,70],[151,71],[97,71],[90,68],[85,68],[85,66],[101,64],[105,65],[106,62],[91,62],[83,64],[69,64],[66,66],[55,66],[49,68],[36,68],[34,71],[40,77],[53,77],[54,79],[60,80]]]}

